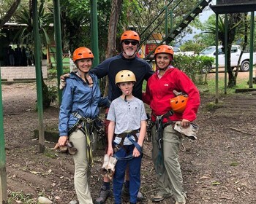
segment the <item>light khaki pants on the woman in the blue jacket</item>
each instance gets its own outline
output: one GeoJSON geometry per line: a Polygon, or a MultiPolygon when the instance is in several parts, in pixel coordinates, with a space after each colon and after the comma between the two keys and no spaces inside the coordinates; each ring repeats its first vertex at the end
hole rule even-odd
{"type": "Polygon", "coordinates": [[[73,155],[75,163],[74,183],[78,201],[80,204],[93,204],[89,191],[91,172],[86,156],[86,136],[77,130],[70,135],[69,140],[78,149],[78,152],[73,155]]]}

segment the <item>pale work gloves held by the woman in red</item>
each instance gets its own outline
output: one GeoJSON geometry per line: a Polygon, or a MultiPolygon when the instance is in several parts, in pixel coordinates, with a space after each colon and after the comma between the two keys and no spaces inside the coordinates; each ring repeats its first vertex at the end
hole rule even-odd
{"type": "Polygon", "coordinates": [[[195,125],[195,123],[190,122],[189,127],[184,128],[181,126],[181,121],[177,121],[174,125],[174,130],[178,131],[178,133],[184,134],[192,140],[197,140],[196,133],[198,132],[199,127],[198,125],[195,125]]]}

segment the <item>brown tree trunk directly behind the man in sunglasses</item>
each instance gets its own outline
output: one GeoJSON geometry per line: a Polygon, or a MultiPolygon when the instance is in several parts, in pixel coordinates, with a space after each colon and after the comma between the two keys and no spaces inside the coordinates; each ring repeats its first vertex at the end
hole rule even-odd
{"type": "MultiPolygon", "coordinates": [[[[106,53],[106,58],[110,58],[116,55],[116,30],[119,15],[121,14],[121,4],[123,0],[112,0],[111,4],[111,14],[108,25],[108,48],[106,53]]],[[[106,76],[106,85],[104,96],[108,95],[108,76],[106,76]]]]}

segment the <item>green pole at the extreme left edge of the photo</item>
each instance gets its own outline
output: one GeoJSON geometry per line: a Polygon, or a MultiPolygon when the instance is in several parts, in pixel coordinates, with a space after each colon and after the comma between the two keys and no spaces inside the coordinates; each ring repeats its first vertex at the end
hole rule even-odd
{"type": "Polygon", "coordinates": [[[4,117],[1,97],[1,67],[0,67],[0,202],[7,204],[7,174],[4,143],[4,117]]]}

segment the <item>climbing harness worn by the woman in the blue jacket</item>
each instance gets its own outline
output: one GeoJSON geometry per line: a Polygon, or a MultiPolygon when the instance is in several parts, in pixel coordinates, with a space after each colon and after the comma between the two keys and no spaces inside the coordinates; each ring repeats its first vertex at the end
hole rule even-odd
{"type": "MultiPolygon", "coordinates": [[[[95,121],[99,122],[99,118],[96,119],[90,119],[86,117],[82,117],[78,112],[72,113],[72,115],[76,118],[78,118],[78,122],[75,123],[72,127],[69,128],[68,135],[70,136],[71,133],[73,133],[76,130],[82,131],[82,133],[86,136],[86,155],[87,155],[87,160],[89,162],[89,166],[93,167],[94,166],[94,159],[92,155],[92,148],[91,144],[93,144],[94,141],[94,123],[95,121]],[[90,138],[91,136],[91,138],[90,138]]],[[[104,127],[102,127],[103,130],[100,130],[101,132],[103,131],[104,133],[104,127]]]]}

